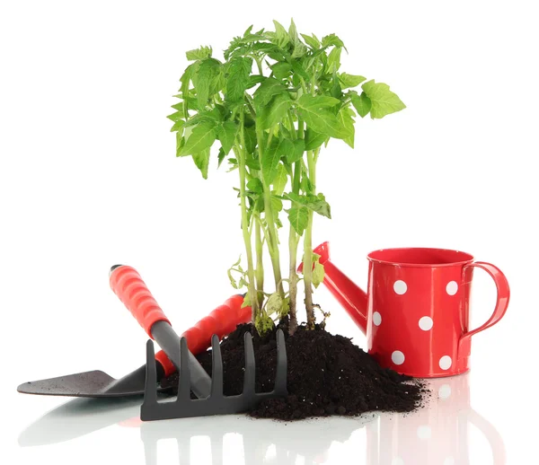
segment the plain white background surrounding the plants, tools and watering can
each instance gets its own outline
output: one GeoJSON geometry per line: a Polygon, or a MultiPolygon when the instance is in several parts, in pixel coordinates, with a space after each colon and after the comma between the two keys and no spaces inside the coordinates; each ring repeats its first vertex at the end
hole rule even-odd
{"type": "MultiPolygon", "coordinates": [[[[498,326],[474,338],[472,403],[503,437],[508,463],[536,459],[530,429],[539,413],[533,2],[5,0],[0,442],[11,462],[145,463],[137,427],[20,448],[25,428],[64,400],[23,396],[15,388],[96,368],[119,376],[143,363],[145,335],[108,285],[115,263],[139,270],[177,329],[234,294],[225,270],[242,250],[232,190],[237,173],[217,171],[214,158],[209,180],[202,180],[190,159],[174,156],[165,116],[186,50],[211,45],[219,58],[250,24],[270,28],[275,18],[287,25],[292,16],[299,31],[338,33],[349,49],[342,70],[389,83],[408,106],[383,120],[358,121],[355,150],[331,142],[323,151],[318,188],[333,219],[316,219],[314,241],[330,240],[334,262],[360,285],[367,281],[367,252],[385,247],[465,250],[499,266],[511,303],[498,326]]],[[[329,330],[365,347],[327,292],[317,291],[315,300],[331,310],[329,330]]],[[[488,318],[494,300],[494,286],[478,272],[475,325],[488,318]]],[[[110,425],[137,415],[135,407],[117,410],[106,419],[110,425]]],[[[229,421],[232,433],[234,421],[249,420],[197,421],[176,427],[189,437],[191,425],[204,431],[229,421]]],[[[331,421],[288,431],[314,443],[324,435],[331,443],[328,431],[344,420],[331,421]]],[[[62,424],[64,433],[73,427],[60,416],[42,434],[54,436],[62,424]]],[[[319,461],[367,463],[359,426],[319,461]]],[[[282,429],[252,427],[260,437],[282,429]]],[[[61,426],[58,431],[62,436],[61,426]]],[[[481,435],[470,434],[471,462],[492,463],[481,435]]],[[[243,463],[241,439],[227,436],[224,463],[243,463]]],[[[210,463],[206,440],[193,439],[191,463],[210,463]]],[[[160,463],[176,457],[174,444],[163,442],[160,463]]]]}

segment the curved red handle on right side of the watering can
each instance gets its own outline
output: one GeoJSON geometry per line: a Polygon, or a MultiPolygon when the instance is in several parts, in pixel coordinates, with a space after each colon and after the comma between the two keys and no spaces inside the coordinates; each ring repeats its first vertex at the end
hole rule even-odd
{"type": "Polygon", "coordinates": [[[464,333],[464,335],[460,338],[459,344],[458,344],[458,356],[459,358],[461,356],[466,356],[470,353],[470,344],[471,344],[471,338],[474,334],[477,334],[478,332],[483,331],[484,329],[488,329],[491,326],[495,325],[499,320],[503,318],[506,311],[508,310],[508,304],[509,304],[509,284],[508,279],[506,276],[501,272],[501,270],[498,267],[495,267],[494,265],[491,265],[490,263],[486,263],[484,261],[476,261],[473,263],[470,263],[469,265],[465,265],[463,268],[463,284],[469,285],[466,279],[466,276],[470,276],[470,268],[482,268],[484,269],[494,280],[494,284],[496,285],[496,291],[498,293],[497,301],[496,301],[496,307],[494,308],[494,312],[490,316],[490,319],[487,320],[486,323],[482,324],[479,328],[473,329],[472,331],[468,331],[464,333]]]}

